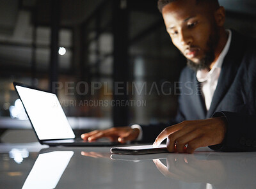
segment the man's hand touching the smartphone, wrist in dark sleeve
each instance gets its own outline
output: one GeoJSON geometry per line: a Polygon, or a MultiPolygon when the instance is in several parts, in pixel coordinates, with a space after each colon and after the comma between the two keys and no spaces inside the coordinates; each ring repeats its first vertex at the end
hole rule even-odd
{"type": "Polygon", "coordinates": [[[225,117],[212,117],[195,121],[183,121],[161,132],[153,146],[157,147],[167,138],[170,152],[193,153],[196,148],[220,144],[227,130],[225,117]],[[184,147],[188,144],[187,148],[184,147]]]}

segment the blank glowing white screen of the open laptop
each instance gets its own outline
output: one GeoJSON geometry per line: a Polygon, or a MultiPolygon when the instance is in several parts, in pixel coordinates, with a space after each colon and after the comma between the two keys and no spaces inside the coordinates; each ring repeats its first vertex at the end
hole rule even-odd
{"type": "Polygon", "coordinates": [[[75,138],[56,94],[22,86],[16,89],[40,140],[75,138]]]}

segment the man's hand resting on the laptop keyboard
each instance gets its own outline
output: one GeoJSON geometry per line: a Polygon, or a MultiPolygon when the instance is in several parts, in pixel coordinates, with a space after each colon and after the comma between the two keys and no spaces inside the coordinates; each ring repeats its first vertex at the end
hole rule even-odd
{"type": "Polygon", "coordinates": [[[118,141],[125,143],[127,141],[136,140],[140,130],[138,128],[131,128],[130,126],[124,127],[113,127],[107,130],[95,130],[90,133],[84,133],[81,135],[83,140],[88,140],[89,142],[95,141],[97,139],[107,137],[112,142],[118,141]]]}

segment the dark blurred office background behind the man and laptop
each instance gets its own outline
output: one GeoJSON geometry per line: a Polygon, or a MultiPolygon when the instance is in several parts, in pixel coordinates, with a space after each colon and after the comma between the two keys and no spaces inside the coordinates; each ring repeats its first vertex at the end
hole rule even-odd
{"type": "MultiPolygon", "coordinates": [[[[228,28],[256,36],[255,1],[220,4],[228,28]]],[[[175,116],[175,82],[185,65],[157,0],[1,0],[1,139],[31,131],[13,81],[58,94],[72,127],[87,130],[175,116]]]]}

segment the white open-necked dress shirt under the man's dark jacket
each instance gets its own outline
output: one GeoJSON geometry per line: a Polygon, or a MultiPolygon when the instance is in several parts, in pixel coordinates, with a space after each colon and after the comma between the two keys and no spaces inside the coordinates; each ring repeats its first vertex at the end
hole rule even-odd
{"type": "Polygon", "coordinates": [[[212,96],[218,84],[218,79],[220,77],[221,66],[223,63],[223,59],[227,55],[228,49],[230,47],[232,33],[229,29],[228,32],[228,40],[227,43],[222,50],[220,56],[218,57],[216,63],[212,66],[210,72],[205,70],[198,70],[196,72],[196,78],[199,82],[202,83],[202,92],[204,94],[205,106],[206,109],[209,110],[212,102],[212,96]]]}

